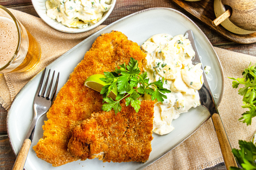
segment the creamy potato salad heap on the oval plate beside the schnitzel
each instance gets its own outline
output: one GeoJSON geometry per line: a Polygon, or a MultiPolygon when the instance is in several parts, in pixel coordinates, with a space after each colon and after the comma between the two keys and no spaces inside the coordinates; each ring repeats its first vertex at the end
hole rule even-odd
{"type": "MultiPolygon", "coordinates": [[[[173,119],[200,105],[198,90],[204,83],[202,64],[192,64],[195,52],[187,35],[156,34],[141,47],[147,54],[143,59],[143,71],[148,73],[149,83],[160,79],[163,88],[171,90],[165,93],[167,99],[155,103],[154,107],[153,132],[167,134],[174,129],[173,119]]],[[[144,99],[150,96],[145,94],[144,99]]]]}

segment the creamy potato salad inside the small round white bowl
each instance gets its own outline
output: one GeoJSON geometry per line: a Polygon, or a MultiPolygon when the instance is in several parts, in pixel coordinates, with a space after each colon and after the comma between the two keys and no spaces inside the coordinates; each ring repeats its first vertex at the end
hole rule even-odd
{"type": "Polygon", "coordinates": [[[46,1],[46,14],[68,27],[87,28],[97,23],[108,11],[111,0],[50,0],[46,1]]]}

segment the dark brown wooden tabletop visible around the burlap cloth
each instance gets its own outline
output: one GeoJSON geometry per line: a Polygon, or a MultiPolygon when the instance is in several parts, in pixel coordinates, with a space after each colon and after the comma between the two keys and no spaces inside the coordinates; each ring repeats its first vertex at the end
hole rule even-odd
{"type": "MultiPolygon", "coordinates": [[[[36,11],[34,10],[31,0],[0,0],[0,5],[39,17],[36,11]]],[[[113,12],[102,24],[108,25],[129,14],[135,13],[143,9],[154,7],[168,7],[184,13],[201,28],[204,34],[209,38],[212,45],[215,47],[256,56],[256,43],[249,45],[241,45],[226,40],[225,38],[219,36],[213,30],[209,29],[206,25],[198,21],[191,14],[180,9],[172,2],[172,0],[117,0],[113,12]]],[[[2,170],[11,169],[15,162],[15,155],[11,149],[7,136],[6,116],[7,111],[2,106],[0,106],[0,169],[2,170]]],[[[220,163],[215,167],[208,168],[207,170],[224,169],[226,169],[224,163],[220,163]]]]}

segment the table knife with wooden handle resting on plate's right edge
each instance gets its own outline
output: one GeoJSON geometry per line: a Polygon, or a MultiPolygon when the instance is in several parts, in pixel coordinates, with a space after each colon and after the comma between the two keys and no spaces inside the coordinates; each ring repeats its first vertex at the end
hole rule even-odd
{"type": "MultiPolygon", "coordinates": [[[[193,64],[202,63],[201,59],[199,57],[196,43],[193,37],[193,33],[191,30],[187,31],[188,33],[188,39],[191,42],[192,48],[195,51],[195,57],[192,60],[193,64]]],[[[224,129],[223,123],[221,121],[218,109],[216,107],[215,101],[213,99],[208,81],[206,79],[206,75],[204,73],[203,65],[201,66],[201,69],[203,70],[203,78],[204,83],[200,90],[198,90],[199,96],[200,96],[200,103],[203,107],[205,107],[211,115],[212,122],[215,128],[215,132],[217,134],[217,138],[219,140],[222,156],[225,162],[226,169],[229,170],[229,167],[237,167],[237,163],[235,161],[235,157],[232,153],[232,149],[229,143],[228,136],[226,134],[226,131],[224,129]]]]}

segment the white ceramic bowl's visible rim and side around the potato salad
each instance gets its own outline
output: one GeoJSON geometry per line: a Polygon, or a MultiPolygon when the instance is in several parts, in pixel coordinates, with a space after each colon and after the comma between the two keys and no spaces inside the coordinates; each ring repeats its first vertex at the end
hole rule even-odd
{"type": "Polygon", "coordinates": [[[46,6],[45,6],[46,0],[32,0],[32,4],[37,12],[37,14],[40,16],[42,20],[46,22],[46,24],[50,25],[52,28],[62,31],[62,32],[68,32],[68,33],[80,33],[80,32],[85,32],[94,29],[95,27],[101,25],[102,22],[104,22],[107,17],[111,14],[112,10],[115,7],[116,0],[112,0],[111,4],[112,7],[107,11],[103,13],[103,16],[99,22],[97,22],[94,25],[90,25],[87,28],[69,28],[65,25],[62,25],[60,22],[57,20],[53,20],[50,17],[46,15],[46,6]]]}

